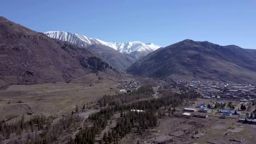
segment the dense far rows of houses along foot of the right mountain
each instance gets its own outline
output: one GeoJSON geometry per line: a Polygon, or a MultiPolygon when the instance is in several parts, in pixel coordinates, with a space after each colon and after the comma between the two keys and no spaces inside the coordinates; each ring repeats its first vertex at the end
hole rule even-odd
{"type": "Polygon", "coordinates": [[[255,84],[224,83],[212,81],[173,81],[165,79],[160,81],[165,88],[175,89],[177,92],[186,92],[188,89],[194,89],[199,92],[202,98],[206,99],[226,99],[236,101],[254,101],[256,99],[255,84]]]}

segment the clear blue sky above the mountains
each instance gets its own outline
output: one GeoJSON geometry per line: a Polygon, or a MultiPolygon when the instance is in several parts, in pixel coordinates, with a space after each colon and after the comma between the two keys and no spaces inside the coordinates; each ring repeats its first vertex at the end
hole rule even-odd
{"type": "Polygon", "coordinates": [[[0,15],[38,32],[167,46],[184,39],[256,49],[256,1],[5,0],[0,15]]]}

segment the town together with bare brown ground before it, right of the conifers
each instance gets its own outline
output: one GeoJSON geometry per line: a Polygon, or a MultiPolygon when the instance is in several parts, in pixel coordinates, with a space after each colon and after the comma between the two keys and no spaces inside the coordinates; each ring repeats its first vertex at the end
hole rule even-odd
{"type": "Polygon", "coordinates": [[[252,143],[254,140],[254,85],[147,79],[157,82],[159,89],[177,94],[195,92],[200,97],[184,99],[184,104],[174,109],[161,107],[158,127],[136,136],[137,140],[143,143],[252,143]]]}

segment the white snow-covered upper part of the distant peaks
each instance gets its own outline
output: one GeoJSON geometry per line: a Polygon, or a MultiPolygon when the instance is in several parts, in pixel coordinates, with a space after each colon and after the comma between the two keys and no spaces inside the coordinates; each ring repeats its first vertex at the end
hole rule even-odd
{"type": "Polygon", "coordinates": [[[68,41],[69,43],[77,44],[82,47],[86,47],[93,44],[102,44],[112,47],[113,49],[121,53],[141,52],[144,55],[147,55],[148,53],[155,51],[161,47],[153,43],[144,44],[141,41],[131,41],[126,43],[106,42],[95,38],[89,38],[80,34],[61,31],[50,31],[45,32],[45,34],[48,35],[48,37],[50,38],[68,41]]]}

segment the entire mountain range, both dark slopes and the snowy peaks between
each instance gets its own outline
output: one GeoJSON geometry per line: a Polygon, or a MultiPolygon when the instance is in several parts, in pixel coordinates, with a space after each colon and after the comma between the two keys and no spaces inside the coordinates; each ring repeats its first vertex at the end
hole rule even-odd
{"type": "Polygon", "coordinates": [[[256,50],[183,40],[167,47],[109,43],[66,32],[32,31],[0,17],[0,87],[70,81],[88,74],[255,83],[256,50]]]}

